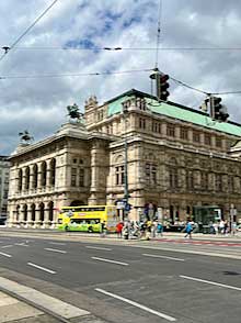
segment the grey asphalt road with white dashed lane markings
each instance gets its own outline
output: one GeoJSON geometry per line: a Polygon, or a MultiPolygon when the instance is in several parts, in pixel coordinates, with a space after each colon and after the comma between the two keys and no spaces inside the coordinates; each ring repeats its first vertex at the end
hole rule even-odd
{"type": "Polygon", "coordinates": [[[241,246],[186,244],[0,236],[0,276],[107,322],[240,323],[241,246]]]}

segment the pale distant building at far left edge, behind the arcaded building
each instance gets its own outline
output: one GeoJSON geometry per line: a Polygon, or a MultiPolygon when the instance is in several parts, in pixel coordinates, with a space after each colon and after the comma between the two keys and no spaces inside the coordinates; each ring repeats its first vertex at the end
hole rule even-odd
{"type": "Polygon", "coordinates": [[[10,162],[8,156],[0,156],[0,224],[3,224],[7,220],[9,171],[10,162]]]}

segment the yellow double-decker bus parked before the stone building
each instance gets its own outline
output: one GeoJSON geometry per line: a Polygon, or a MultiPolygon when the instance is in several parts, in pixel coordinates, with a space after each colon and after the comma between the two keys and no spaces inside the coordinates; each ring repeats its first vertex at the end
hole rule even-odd
{"type": "Polygon", "coordinates": [[[105,222],[110,232],[118,223],[115,205],[64,207],[58,215],[60,231],[101,232],[105,222]]]}

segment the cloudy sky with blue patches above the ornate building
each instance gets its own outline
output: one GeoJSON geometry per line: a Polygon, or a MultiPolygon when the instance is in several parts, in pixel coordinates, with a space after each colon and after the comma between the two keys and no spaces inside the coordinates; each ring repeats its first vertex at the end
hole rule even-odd
{"type": "MultiPolygon", "coordinates": [[[[51,2],[1,0],[0,47],[14,44],[51,2]]],[[[14,149],[25,129],[35,141],[51,134],[65,122],[66,107],[83,109],[91,94],[103,103],[131,88],[150,92],[147,71],[73,75],[153,68],[156,52],[147,48],[157,45],[159,2],[58,0],[0,60],[0,155],[14,149]]],[[[240,31],[239,0],[162,0],[159,69],[206,92],[239,91],[240,31]]],[[[174,81],[170,92],[171,101],[195,109],[205,98],[174,81]]],[[[230,120],[241,123],[241,94],[221,98],[230,120]]]]}

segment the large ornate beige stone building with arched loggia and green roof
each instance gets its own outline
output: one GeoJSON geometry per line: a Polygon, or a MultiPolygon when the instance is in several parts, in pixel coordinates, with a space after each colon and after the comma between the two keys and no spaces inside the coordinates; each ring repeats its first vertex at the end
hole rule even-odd
{"type": "Polygon", "coordinates": [[[240,124],[137,90],[101,105],[91,97],[84,109],[84,124],[64,124],[11,155],[9,225],[55,225],[62,205],[122,201],[125,162],[130,219],[150,205],[174,222],[210,204],[223,218],[233,204],[241,218],[240,124]]]}

